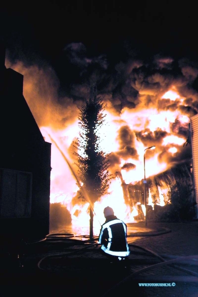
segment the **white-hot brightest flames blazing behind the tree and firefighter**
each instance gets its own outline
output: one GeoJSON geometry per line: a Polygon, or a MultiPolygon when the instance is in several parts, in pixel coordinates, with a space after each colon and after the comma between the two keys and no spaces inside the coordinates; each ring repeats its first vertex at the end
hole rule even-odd
{"type": "MultiPolygon", "coordinates": [[[[170,91],[172,92],[172,91],[170,91]]],[[[165,96],[167,96],[167,92],[165,96]]],[[[172,94],[172,93],[170,93],[172,94]]],[[[173,94],[177,99],[180,98],[179,94],[174,91],[173,94]],[[177,95],[177,96],[176,96],[177,95]]],[[[104,126],[100,131],[101,148],[104,152],[119,152],[120,144],[118,139],[118,133],[124,126],[130,127],[131,131],[142,132],[143,137],[147,137],[148,133],[152,135],[157,129],[171,132],[171,124],[175,122],[175,119],[179,119],[181,124],[188,123],[187,118],[180,114],[178,111],[157,111],[155,108],[142,109],[141,111],[130,110],[124,108],[120,116],[111,113],[110,109],[106,109],[106,123],[109,129],[104,126]]],[[[74,166],[74,159],[71,154],[72,145],[75,138],[78,136],[78,120],[73,122],[63,130],[53,130],[51,127],[40,127],[41,132],[47,142],[51,143],[51,193],[50,203],[61,202],[64,204],[71,213],[72,225],[74,230],[77,230],[79,226],[89,227],[89,201],[78,201],[73,204],[72,200],[75,198],[79,189],[76,181],[76,175],[71,171],[69,164],[74,166]],[[55,140],[53,142],[52,140],[55,140]],[[57,146],[58,142],[58,146],[57,146]],[[55,145],[56,144],[56,145],[55,145]],[[64,151],[64,154],[68,160],[65,161],[60,153],[60,148],[64,151]]],[[[107,205],[114,209],[115,215],[127,222],[133,222],[134,217],[138,215],[137,205],[126,205],[124,200],[124,193],[122,183],[135,184],[144,178],[144,153],[146,156],[146,178],[156,175],[165,171],[169,164],[166,161],[160,161],[159,155],[161,148],[166,150],[166,153],[171,155],[177,152],[176,147],[181,147],[185,143],[186,139],[177,135],[166,134],[161,140],[160,149],[157,147],[152,151],[145,153],[145,145],[143,142],[134,137],[134,146],[137,150],[135,157],[128,158],[123,154],[120,157],[120,163],[117,165],[122,175],[122,181],[117,177],[112,180],[109,188],[109,194],[102,197],[94,205],[94,230],[95,234],[99,233],[100,224],[104,221],[103,208],[107,205]],[[130,169],[125,164],[134,164],[134,167],[130,169]]],[[[110,168],[111,169],[111,168],[110,168]]],[[[111,169],[112,170],[112,169],[111,169]]],[[[115,173],[112,171],[112,173],[115,173]]],[[[158,187],[158,205],[165,205],[167,203],[167,193],[169,189],[161,189],[158,187]]],[[[152,205],[153,201],[149,190],[148,204],[152,205]]],[[[140,202],[139,202],[140,203],[140,202]]],[[[142,210],[145,213],[145,205],[142,205],[142,210]]],[[[75,233],[75,232],[74,232],[75,233]]]]}

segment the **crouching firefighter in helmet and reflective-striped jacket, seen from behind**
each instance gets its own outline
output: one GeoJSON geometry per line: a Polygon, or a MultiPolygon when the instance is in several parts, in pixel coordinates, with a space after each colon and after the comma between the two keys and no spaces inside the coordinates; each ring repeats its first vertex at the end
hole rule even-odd
{"type": "Polygon", "coordinates": [[[109,206],[104,208],[104,217],[106,220],[99,233],[100,251],[111,263],[123,262],[130,254],[127,226],[114,215],[113,209],[109,206]]]}

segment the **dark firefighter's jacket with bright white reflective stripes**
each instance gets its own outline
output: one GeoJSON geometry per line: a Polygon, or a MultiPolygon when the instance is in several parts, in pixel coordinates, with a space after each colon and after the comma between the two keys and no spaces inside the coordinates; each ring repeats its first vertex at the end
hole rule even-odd
{"type": "Polygon", "coordinates": [[[127,226],[117,217],[113,217],[101,226],[99,244],[101,249],[109,255],[126,257],[130,254],[127,244],[127,226]]]}

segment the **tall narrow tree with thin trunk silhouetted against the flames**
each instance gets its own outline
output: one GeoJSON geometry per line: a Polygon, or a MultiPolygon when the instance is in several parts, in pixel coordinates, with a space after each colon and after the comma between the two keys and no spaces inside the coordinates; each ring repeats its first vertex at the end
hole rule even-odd
{"type": "Polygon", "coordinates": [[[79,197],[87,193],[90,202],[90,239],[93,239],[94,202],[107,194],[111,174],[108,171],[108,155],[100,149],[99,129],[104,124],[105,114],[102,99],[97,96],[96,87],[91,88],[90,98],[79,108],[81,132],[74,143],[77,151],[78,176],[82,182],[79,197]]]}

